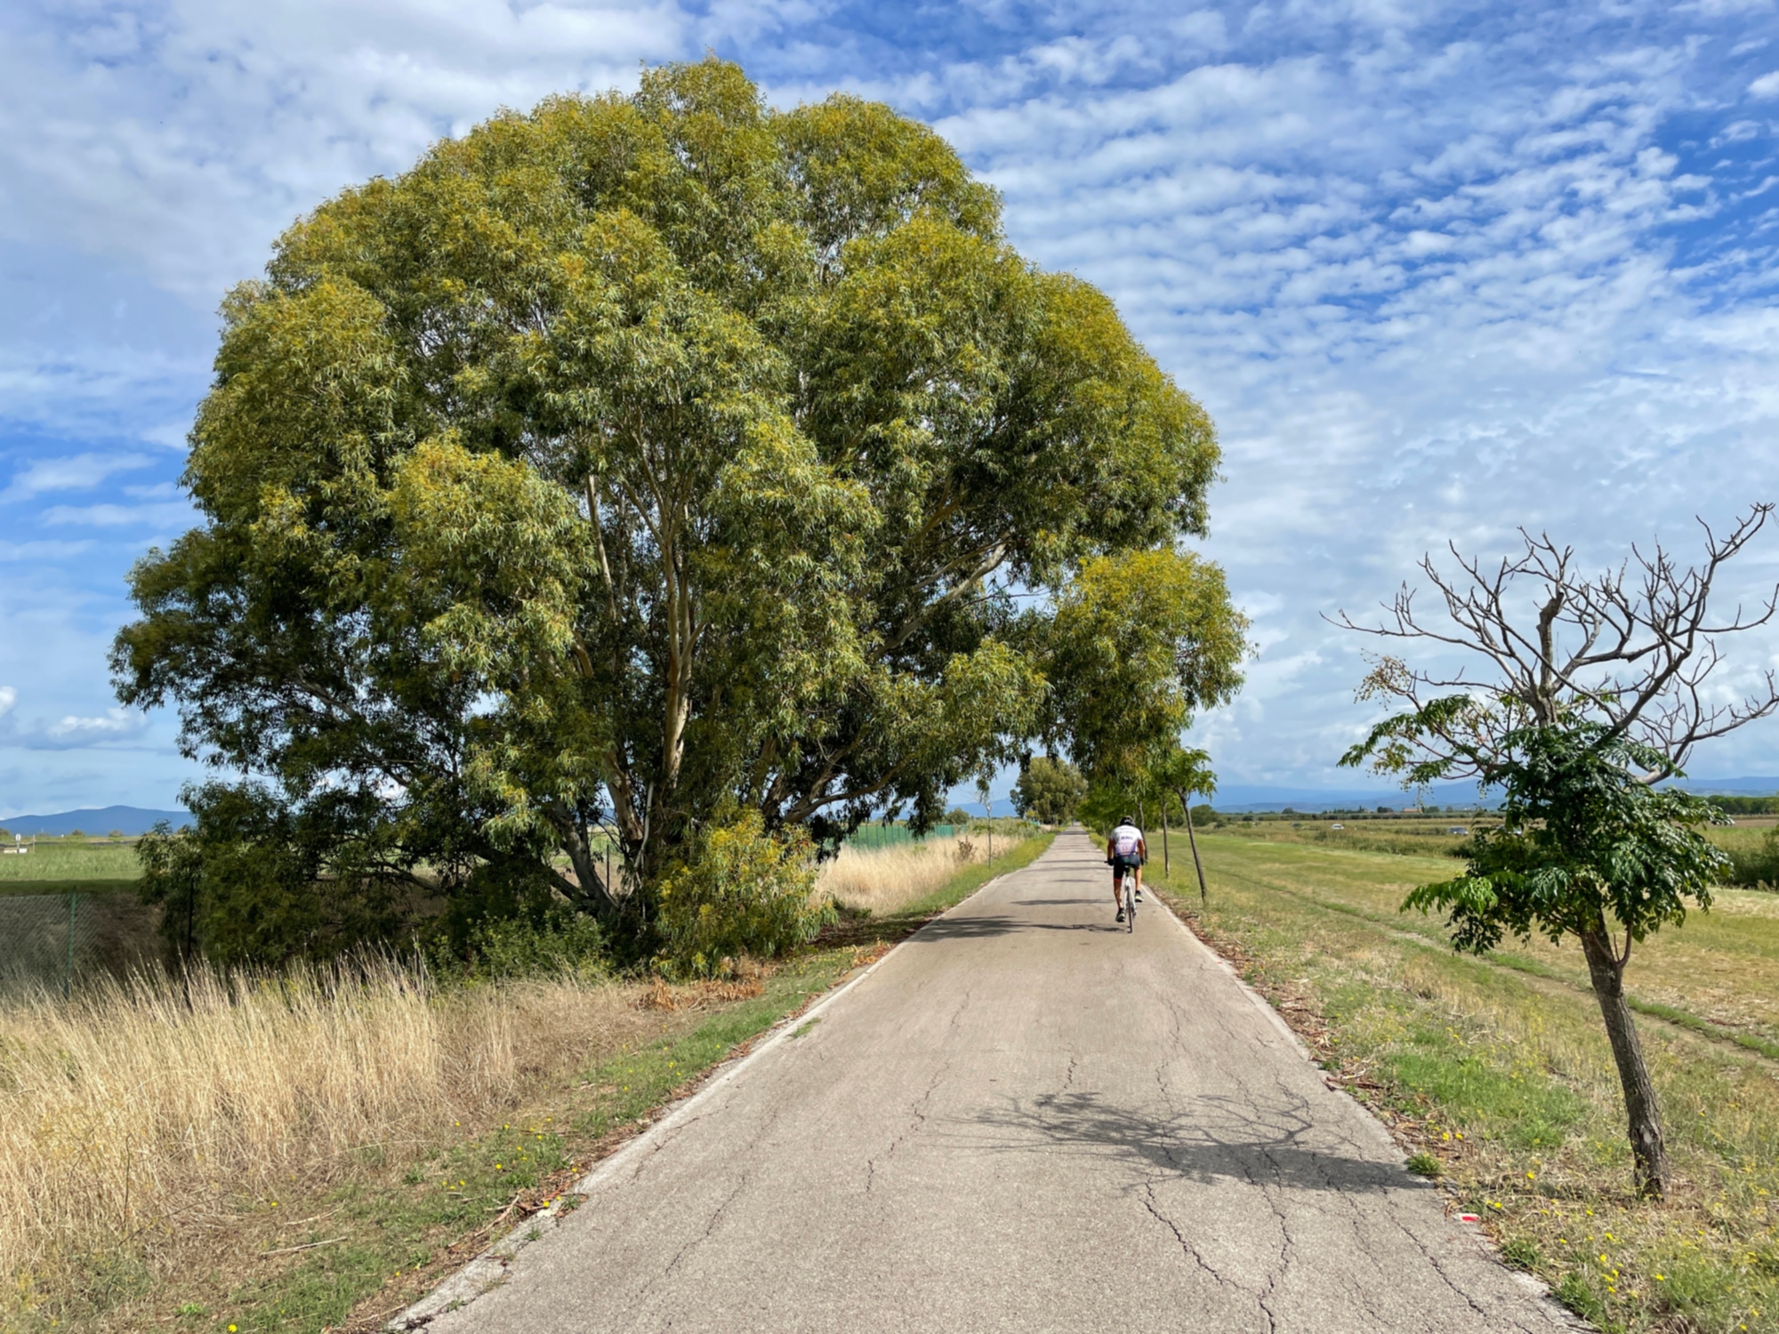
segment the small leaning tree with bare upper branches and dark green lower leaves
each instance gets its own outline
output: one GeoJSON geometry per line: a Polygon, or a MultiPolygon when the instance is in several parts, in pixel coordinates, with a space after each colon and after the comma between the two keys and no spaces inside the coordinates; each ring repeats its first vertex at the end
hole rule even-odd
{"type": "Polygon", "coordinates": [[[1381,626],[1340,617],[1352,630],[1468,649],[1489,663],[1469,674],[1377,660],[1361,699],[1409,708],[1372,727],[1341,763],[1370,763],[1409,786],[1475,777],[1503,790],[1503,824],[1473,840],[1466,873],[1420,886],[1404,911],[1446,911],[1459,950],[1482,953],[1503,934],[1532,932],[1580,944],[1646,1195],[1667,1188],[1667,1151],[1624,971],[1633,946],[1685,921],[1688,904],[1710,907],[1711,882],[1727,864],[1699,832],[1722,818],[1715,808],[1654,784],[1681,777],[1699,742],[1779,708],[1772,672],[1759,692],[1729,704],[1710,703],[1704,688],[1719,642],[1779,608],[1775,591],[1756,614],[1738,607],[1727,619],[1710,617],[1720,567],[1770,512],[1756,505],[1726,537],[1706,526],[1699,567],[1676,566],[1658,544],[1594,578],[1573,571],[1571,548],[1523,532],[1523,553],[1493,569],[1459,557],[1459,575],[1448,576],[1430,557],[1421,562],[1450,628],[1427,624],[1407,585],[1381,626]]]}

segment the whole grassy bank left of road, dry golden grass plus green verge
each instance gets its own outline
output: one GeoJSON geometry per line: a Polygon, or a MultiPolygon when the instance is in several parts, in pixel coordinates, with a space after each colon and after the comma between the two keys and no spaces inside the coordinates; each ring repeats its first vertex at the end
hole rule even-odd
{"type": "Polygon", "coordinates": [[[1046,845],[964,864],[897,848],[875,873],[856,859],[838,928],[722,984],[429,989],[388,968],[4,1009],[0,1325],[374,1329],[715,1064],[1046,845]]]}

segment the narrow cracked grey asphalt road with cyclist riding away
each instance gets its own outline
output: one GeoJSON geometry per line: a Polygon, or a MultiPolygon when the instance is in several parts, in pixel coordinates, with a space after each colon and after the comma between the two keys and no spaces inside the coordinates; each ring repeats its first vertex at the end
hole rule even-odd
{"type": "Polygon", "coordinates": [[[591,1177],[468,1330],[1542,1330],[1384,1131],[1082,834],[591,1177]]]}

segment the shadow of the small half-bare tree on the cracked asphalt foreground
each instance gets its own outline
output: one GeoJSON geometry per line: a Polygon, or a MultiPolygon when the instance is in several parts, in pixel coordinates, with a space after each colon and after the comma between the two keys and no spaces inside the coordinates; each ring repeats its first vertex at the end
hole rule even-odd
{"type": "Polygon", "coordinates": [[[1393,1161],[1315,1135],[1300,1108],[1260,1108],[1233,1097],[1194,1099],[1169,1119],[1133,1112],[1099,1094],[1009,1099],[973,1117],[968,1138],[994,1153],[1078,1153],[1192,1181],[1240,1181],[1290,1190],[1381,1192],[1421,1185],[1393,1161]],[[994,1131],[984,1144],[980,1129],[994,1131]]]}

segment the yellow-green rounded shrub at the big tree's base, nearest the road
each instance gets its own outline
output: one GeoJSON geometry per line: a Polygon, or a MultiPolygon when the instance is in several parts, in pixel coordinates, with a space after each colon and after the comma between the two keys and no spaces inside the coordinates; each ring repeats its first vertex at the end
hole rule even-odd
{"type": "Polygon", "coordinates": [[[712,976],[742,955],[770,959],[804,944],[833,918],[833,904],[815,898],[809,836],[769,834],[747,811],[704,832],[692,863],[662,882],[660,964],[712,976]]]}

